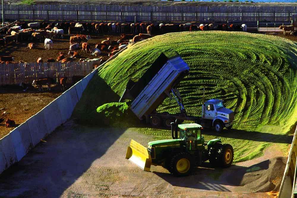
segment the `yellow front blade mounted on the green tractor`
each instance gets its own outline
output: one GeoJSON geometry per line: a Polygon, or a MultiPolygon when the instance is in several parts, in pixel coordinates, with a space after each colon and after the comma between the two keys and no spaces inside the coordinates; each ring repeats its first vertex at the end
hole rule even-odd
{"type": "Polygon", "coordinates": [[[149,171],[151,168],[151,155],[147,148],[134,140],[131,140],[130,146],[128,146],[126,159],[129,159],[145,171],[149,171]]]}

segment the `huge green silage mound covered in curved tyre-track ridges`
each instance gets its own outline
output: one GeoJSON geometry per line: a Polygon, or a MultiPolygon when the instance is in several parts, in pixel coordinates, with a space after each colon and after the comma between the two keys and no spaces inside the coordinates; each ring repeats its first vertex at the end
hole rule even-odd
{"type": "MultiPolygon", "coordinates": [[[[296,42],[288,39],[244,32],[195,31],[156,36],[132,45],[100,68],[76,112],[95,110],[83,103],[94,97],[102,100],[103,95],[96,93],[102,89],[99,81],[114,92],[104,97],[116,102],[130,78],[141,77],[160,53],[177,51],[190,67],[189,75],[178,85],[188,115],[200,116],[203,87],[206,99],[223,99],[225,106],[235,112],[235,130],[208,132],[205,137],[222,136],[235,148],[235,161],[252,159],[271,142],[290,142],[291,136],[285,133],[297,115],[296,49],[296,42]]],[[[97,107],[102,103],[96,101],[97,107]]],[[[158,111],[178,113],[179,109],[175,100],[166,99],[158,111]]],[[[156,139],[170,137],[166,130],[139,131],[153,134],[156,139]]]]}

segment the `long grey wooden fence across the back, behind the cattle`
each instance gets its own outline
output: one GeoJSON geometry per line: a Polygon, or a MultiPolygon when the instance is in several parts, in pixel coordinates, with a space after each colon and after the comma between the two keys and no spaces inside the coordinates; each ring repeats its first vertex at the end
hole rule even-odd
{"type": "Polygon", "coordinates": [[[5,20],[291,22],[293,15],[297,6],[4,5],[5,20]]]}

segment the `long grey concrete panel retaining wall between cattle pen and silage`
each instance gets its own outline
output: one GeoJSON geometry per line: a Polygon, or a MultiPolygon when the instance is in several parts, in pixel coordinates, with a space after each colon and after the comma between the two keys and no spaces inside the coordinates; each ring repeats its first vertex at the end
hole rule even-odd
{"type": "MultiPolygon", "coordinates": [[[[123,50],[127,49],[125,47],[123,50]]],[[[53,132],[72,115],[75,105],[98,69],[116,58],[119,53],[94,69],[38,113],[0,139],[0,173],[20,161],[40,140],[53,132]]]]}

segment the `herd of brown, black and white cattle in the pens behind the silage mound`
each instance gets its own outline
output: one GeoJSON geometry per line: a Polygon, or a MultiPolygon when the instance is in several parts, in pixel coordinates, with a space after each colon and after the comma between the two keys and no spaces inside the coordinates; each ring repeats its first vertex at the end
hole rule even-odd
{"type": "MultiPolygon", "coordinates": [[[[280,29],[284,31],[293,32],[291,26],[280,26],[280,29]]],[[[195,25],[192,23],[185,24],[153,24],[153,23],[75,23],[75,22],[65,22],[65,23],[25,23],[17,22],[14,26],[10,28],[4,28],[0,33],[0,44],[5,47],[6,44],[10,42],[23,42],[27,41],[29,49],[34,49],[36,47],[36,42],[42,42],[44,40],[44,45],[46,50],[54,48],[53,38],[63,38],[64,32],[70,35],[69,39],[69,53],[65,54],[59,52],[59,56],[54,58],[48,58],[46,62],[71,62],[75,59],[78,61],[91,62],[93,67],[96,68],[104,60],[101,56],[99,58],[82,58],[79,55],[78,49],[81,48],[83,53],[91,53],[94,56],[99,56],[102,51],[108,53],[111,57],[115,55],[120,50],[123,50],[130,43],[135,43],[144,39],[151,38],[152,34],[165,34],[169,32],[179,32],[179,31],[209,31],[209,30],[219,30],[219,31],[247,31],[246,24],[218,24],[214,26],[213,24],[200,24],[195,25]],[[88,43],[91,39],[89,33],[98,34],[116,34],[120,33],[120,39],[112,40],[107,38],[106,40],[97,43],[94,48],[88,43]],[[3,35],[6,34],[6,35],[3,35]],[[67,57],[67,55],[69,57],[67,57]]],[[[12,56],[0,56],[0,64],[14,63],[14,58],[12,56]]],[[[23,61],[20,61],[23,62],[23,61]]],[[[37,63],[42,63],[42,58],[36,60],[37,63]]],[[[67,77],[60,78],[60,84],[64,89],[64,84],[66,83],[67,77]]],[[[50,89],[50,84],[53,84],[52,79],[38,79],[34,80],[32,85],[37,85],[41,90],[41,85],[48,85],[50,89]]],[[[26,84],[21,84],[25,86],[26,84]]],[[[27,86],[28,88],[29,86],[27,86]]],[[[26,89],[25,89],[26,90],[26,89]]]]}

